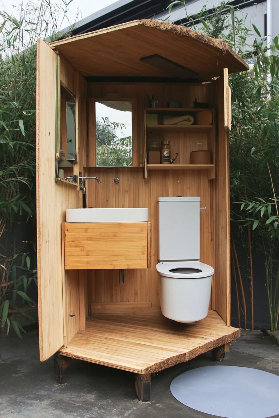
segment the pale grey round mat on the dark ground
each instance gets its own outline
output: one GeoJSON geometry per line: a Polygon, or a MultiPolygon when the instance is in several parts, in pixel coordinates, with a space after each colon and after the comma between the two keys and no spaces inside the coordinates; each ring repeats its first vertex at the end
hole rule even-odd
{"type": "Polygon", "coordinates": [[[207,366],[171,382],[174,398],[189,408],[225,418],[279,414],[279,376],[236,366],[207,366]]]}

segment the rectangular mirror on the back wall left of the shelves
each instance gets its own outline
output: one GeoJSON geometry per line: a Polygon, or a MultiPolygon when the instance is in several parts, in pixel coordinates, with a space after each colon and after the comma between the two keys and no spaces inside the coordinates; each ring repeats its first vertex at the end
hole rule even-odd
{"type": "Polygon", "coordinates": [[[132,166],[132,102],[96,102],[96,166],[132,166]]]}

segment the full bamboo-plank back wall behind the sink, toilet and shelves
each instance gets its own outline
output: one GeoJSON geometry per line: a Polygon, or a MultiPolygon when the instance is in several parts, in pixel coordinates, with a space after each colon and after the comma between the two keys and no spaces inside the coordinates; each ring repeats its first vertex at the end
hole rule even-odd
{"type": "MultiPolygon", "coordinates": [[[[121,98],[136,97],[139,112],[142,112],[142,117],[138,121],[138,137],[141,139],[140,161],[143,160],[144,155],[143,110],[148,106],[147,94],[149,97],[154,94],[162,107],[166,107],[166,102],[174,98],[182,101],[182,107],[185,108],[192,107],[196,97],[200,102],[209,101],[207,84],[88,84],[89,97],[112,97],[112,95],[117,97],[117,94],[121,98]]],[[[159,139],[162,140],[163,137],[170,140],[171,156],[175,156],[175,152],[179,152],[182,157],[184,155],[183,163],[189,163],[190,150],[202,149],[201,146],[205,146],[206,149],[207,146],[206,133],[160,132],[159,139]]],[[[211,134],[210,146],[214,140],[211,134]]],[[[159,276],[156,271],[158,263],[156,199],[159,196],[201,197],[201,207],[207,208],[200,211],[201,261],[211,264],[210,182],[207,170],[150,170],[147,179],[143,179],[143,169],[137,167],[91,167],[87,169],[87,174],[97,176],[101,181],[101,184],[87,181],[87,207],[148,207],[148,220],[152,224],[151,268],[124,270],[124,284],[119,283],[118,271],[88,270],[91,289],[89,302],[151,302],[153,307],[160,306],[157,283],[159,276]],[[120,179],[118,184],[114,183],[115,177],[120,179]]]]}

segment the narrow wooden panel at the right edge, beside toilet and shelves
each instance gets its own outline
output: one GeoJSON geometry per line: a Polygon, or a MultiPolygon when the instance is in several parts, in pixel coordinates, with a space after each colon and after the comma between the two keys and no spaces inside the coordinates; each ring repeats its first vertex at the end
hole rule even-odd
{"type": "Polygon", "coordinates": [[[211,180],[213,260],[212,308],[230,325],[230,188],[228,130],[231,127],[228,69],[210,85],[210,102],[217,112],[216,178],[211,180]]]}

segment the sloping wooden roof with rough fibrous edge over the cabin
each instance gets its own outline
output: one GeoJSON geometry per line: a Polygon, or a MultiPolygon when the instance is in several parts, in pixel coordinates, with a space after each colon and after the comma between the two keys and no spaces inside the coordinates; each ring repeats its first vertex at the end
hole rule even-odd
{"type": "Polygon", "coordinates": [[[135,20],[50,43],[84,76],[169,77],[140,61],[158,54],[199,74],[200,80],[245,71],[247,64],[227,43],[184,26],[135,20]]]}

